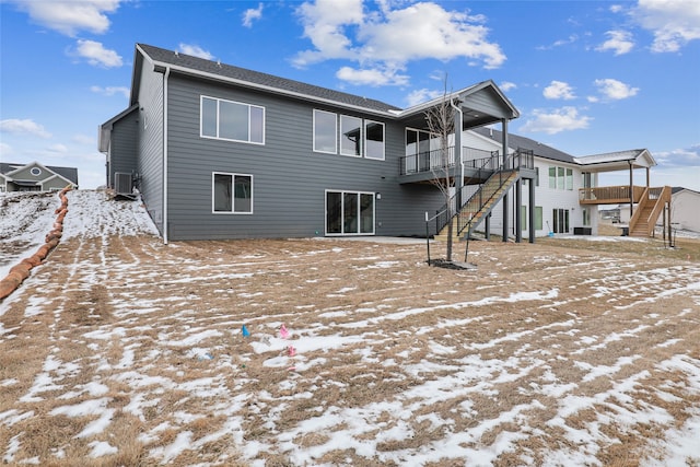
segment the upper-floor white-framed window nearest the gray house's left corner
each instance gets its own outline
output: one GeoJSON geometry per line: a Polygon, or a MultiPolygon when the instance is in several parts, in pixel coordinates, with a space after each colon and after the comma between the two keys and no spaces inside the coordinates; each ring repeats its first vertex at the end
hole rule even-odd
{"type": "Polygon", "coordinates": [[[201,96],[203,138],[265,143],[265,107],[201,96]]]}

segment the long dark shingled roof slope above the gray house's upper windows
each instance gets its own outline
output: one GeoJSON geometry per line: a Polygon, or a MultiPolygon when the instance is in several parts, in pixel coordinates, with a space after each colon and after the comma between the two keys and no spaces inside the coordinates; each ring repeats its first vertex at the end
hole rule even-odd
{"type": "Polygon", "coordinates": [[[235,81],[245,86],[257,86],[280,94],[296,95],[316,101],[326,101],[345,106],[360,107],[368,110],[388,113],[400,110],[390,104],[366,98],[327,87],[315,86],[300,81],[288,80],[272,74],[261,73],[245,68],[207,60],[186,54],[167,50],[147,44],[137,44],[137,48],[145,54],[155,65],[170,66],[173,70],[191,72],[198,75],[209,75],[226,81],[235,81]]]}

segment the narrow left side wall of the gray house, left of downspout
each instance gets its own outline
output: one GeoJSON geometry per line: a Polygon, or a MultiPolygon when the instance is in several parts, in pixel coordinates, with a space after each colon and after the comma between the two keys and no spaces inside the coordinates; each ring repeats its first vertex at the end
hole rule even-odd
{"type": "Polygon", "coordinates": [[[151,219],[163,233],[163,74],[144,63],[139,86],[139,189],[151,219]]]}

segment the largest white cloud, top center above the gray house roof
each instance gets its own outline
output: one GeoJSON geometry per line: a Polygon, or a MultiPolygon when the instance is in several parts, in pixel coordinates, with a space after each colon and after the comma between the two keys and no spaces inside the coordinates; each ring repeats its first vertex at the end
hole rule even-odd
{"type": "Polygon", "coordinates": [[[380,2],[378,11],[365,12],[361,0],[343,1],[342,9],[331,0],[304,2],[296,11],[314,48],[300,51],[293,63],[346,59],[365,73],[378,70],[375,84],[399,84],[404,81],[386,81],[386,70],[402,70],[412,60],[466,58],[487,69],[505,61],[499,45],[488,40],[482,16],[446,11],[432,2],[393,9],[395,4],[405,3],[380,2]]]}

